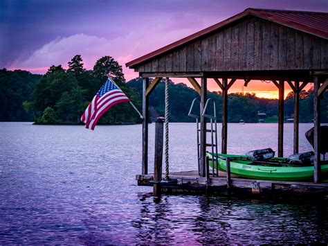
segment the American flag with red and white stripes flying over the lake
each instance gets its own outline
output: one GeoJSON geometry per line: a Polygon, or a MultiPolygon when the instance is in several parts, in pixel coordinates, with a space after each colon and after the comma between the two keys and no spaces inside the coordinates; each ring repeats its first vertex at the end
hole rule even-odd
{"type": "Polygon", "coordinates": [[[94,130],[95,124],[97,124],[104,112],[113,107],[113,105],[124,102],[129,102],[129,98],[113,80],[108,78],[97,94],[95,94],[89,106],[86,107],[81,121],[85,123],[86,128],[94,130]]]}

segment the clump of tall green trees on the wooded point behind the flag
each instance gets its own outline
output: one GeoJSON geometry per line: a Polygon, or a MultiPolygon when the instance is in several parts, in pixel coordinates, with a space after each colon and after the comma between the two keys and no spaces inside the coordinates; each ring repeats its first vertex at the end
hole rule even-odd
{"type": "MultiPolygon", "coordinates": [[[[110,76],[125,94],[140,107],[140,96],[127,87],[122,67],[110,56],[100,58],[92,70],[83,67],[80,55],[69,62],[69,69],[52,66],[35,85],[23,107],[37,124],[80,123],[80,117],[93,96],[110,76]]],[[[138,115],[127,103],[116,105],[100,118],[99,123],[138,122],[138,115]]]]}

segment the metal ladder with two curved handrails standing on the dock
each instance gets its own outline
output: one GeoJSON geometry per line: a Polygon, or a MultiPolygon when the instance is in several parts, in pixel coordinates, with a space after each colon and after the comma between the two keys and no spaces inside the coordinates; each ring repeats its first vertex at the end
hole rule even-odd
{"type": "MultiPolygon", "coordinates": [[[[207,129],[206,127],[206,133],[210,132],[211,135],[211,142],[210,143],[206,143],[206,148],[207,147],[211,147],[212,153],[213,154],[217,154],[217,112],[216,112],[216,108],[215,108],[215,101],[212,98],[208,98],[208,100],[206,101],[203,113],[201,114],[201,109],[200,109],[200,99],[199,98],[194,98],[194,100],[192,100],[192,105],[190,107],[188,116],[192,117],[192,118],[196,118],[196,125],[197,125],[197,157],[198,157],[198,173],[200,173],[201,170],[201,158],[200,158],[200,147],[201,144],[199,143],[199,134],[201,132],[200,129],[200,125],[199,125],[199,120],[200,120],[200,115],[206,117],[206,118],[210,118],[210,129],[207,129]],[[196,103],[196,101],[199,100],[199,114],[194,114],[193,113],[193,109],[194,109],[194,105],[196,103]],[[206,114],[206,109],[208,108],[208,103],[210,102],[210,100],[213,101],[213,115],[210,114],[206,114]],[[214,125],[214,128],[213,128],[214,125]]],[[[206,123],[207,125],[207,123],[206,123]]],[[[219,171],[218,171],[218,159],[217,159],[217,155],[215,155],[215,159],[212,159],[212,163],[214,166],[214,161],[216,163],[216,172],[215,172],[215,168],[212,168],[212,175],[213,177],[216,175],[219,175],[219,171]]]]}

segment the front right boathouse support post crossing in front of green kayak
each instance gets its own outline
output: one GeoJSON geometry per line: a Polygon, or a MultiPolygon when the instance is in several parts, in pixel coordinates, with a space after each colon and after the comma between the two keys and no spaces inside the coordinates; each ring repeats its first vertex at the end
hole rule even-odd
{"type": "Polygon", "coordinates": [[[318,76],[314,77],[314,95],[313,95],[313,114],[314,114],[314,137],[313,137],[313,149],[314,149],[314,182],[320,181],[320,97],[318,91],[320,88],[320,82],[318,76]]]}

